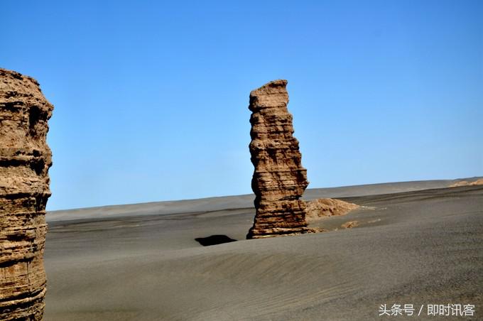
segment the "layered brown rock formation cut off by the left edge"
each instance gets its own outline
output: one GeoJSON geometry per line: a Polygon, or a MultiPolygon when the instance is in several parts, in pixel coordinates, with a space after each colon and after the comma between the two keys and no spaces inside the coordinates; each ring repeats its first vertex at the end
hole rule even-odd
{"type": "Polygon", "coordinates": [[[0,69],[0,320],[43,317],[52,110],[36,80],[0,69]]]}

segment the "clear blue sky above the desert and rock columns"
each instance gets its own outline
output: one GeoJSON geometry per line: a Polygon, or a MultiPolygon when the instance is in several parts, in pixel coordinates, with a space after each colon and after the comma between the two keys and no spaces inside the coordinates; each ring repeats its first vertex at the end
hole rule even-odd
{"type": "Polygon", "coordinates": [[[0,66],[55,105],[48,210],[251,192],[288,80],[309,187],[483,175],[483,1],[12,1],[0,66]]]}

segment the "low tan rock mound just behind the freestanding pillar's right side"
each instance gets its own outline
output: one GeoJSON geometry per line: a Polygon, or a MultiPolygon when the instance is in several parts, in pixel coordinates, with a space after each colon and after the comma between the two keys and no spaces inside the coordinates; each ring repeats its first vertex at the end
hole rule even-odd
{"type": "Polygon", "coordinates": [[[334,215],[345,215],[355,210],[359,205],[355,205],[335,198],[319,198],[306,202],[307,204],[307,220],[310,222],[323,217],[334,215]]]}

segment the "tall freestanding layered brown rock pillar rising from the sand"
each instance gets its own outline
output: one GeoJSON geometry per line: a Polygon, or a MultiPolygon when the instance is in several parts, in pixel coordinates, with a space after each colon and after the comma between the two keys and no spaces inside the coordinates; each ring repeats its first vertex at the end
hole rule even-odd
{"type": "Polygon", "coordinates": [[[293,137],[286,85],[286,80],[274,80],[250,93],[256,215],[248,239],[309,232],[300,200],[308,186],[307,170],[293,137]]]}

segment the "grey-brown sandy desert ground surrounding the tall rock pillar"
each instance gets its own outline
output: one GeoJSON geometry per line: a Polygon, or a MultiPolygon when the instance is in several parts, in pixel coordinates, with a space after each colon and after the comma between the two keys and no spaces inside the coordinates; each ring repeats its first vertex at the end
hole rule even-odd
{"type": "Polygon", "coordinates": [[[394,303],[482,320],[483,185],[458,181],[307,190],[362,207],[270,239],[245,239],[253,195],[48,212],[45,320],[404,319],[379,317],[394,303]],[[195,240],[212,235],[237,241],[195,240]]]}

